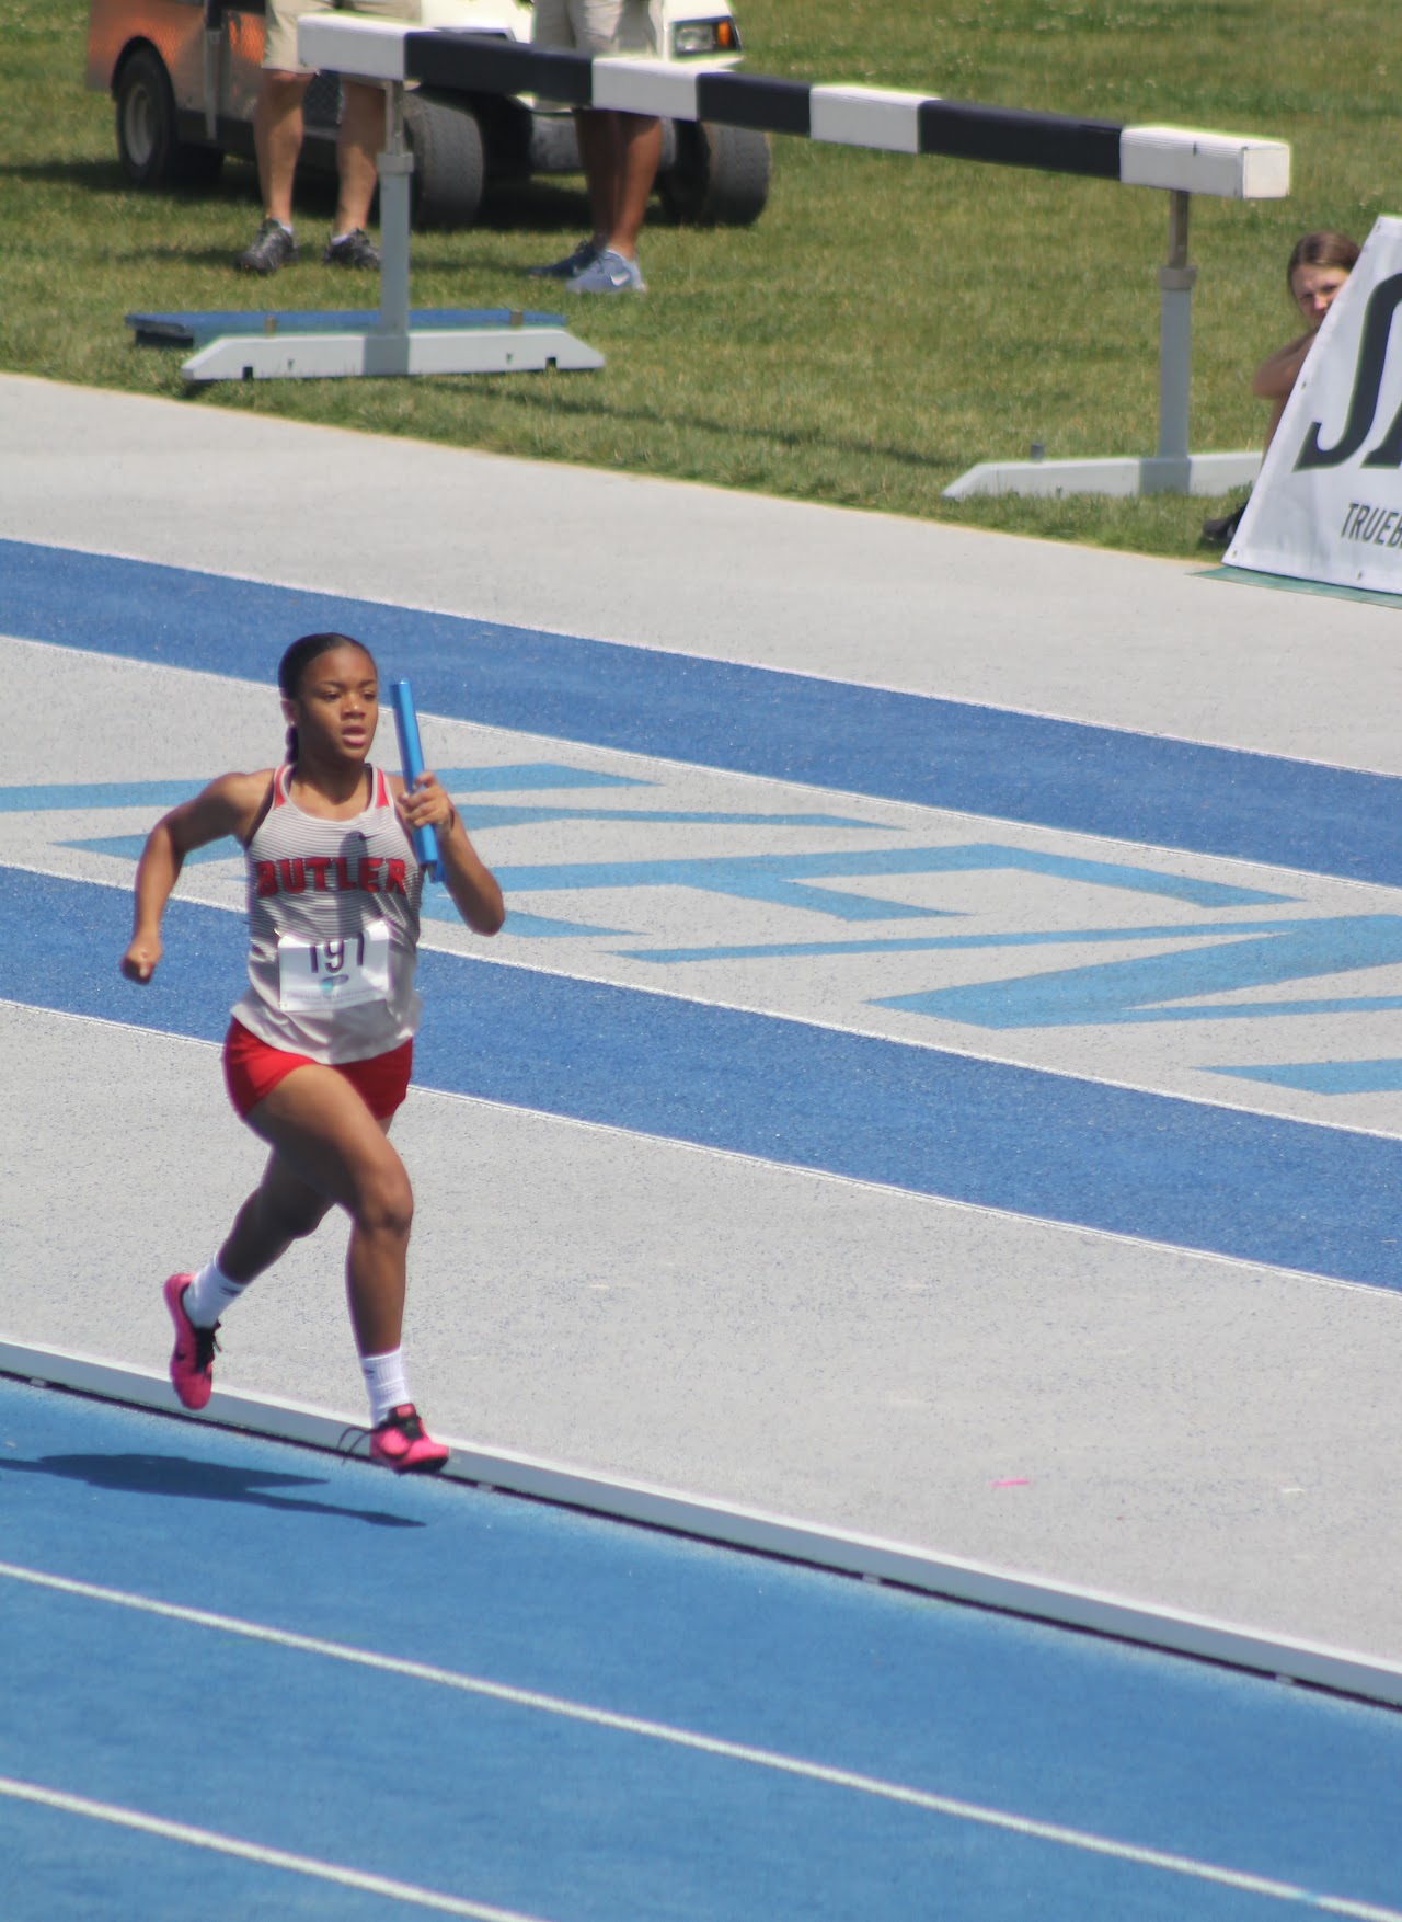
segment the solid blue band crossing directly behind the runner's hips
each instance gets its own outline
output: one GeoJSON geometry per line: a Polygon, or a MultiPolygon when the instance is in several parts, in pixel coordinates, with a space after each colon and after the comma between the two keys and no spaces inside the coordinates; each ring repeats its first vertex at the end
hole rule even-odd
{"type": "MultiPolygon", "coordinates": [[[[123,890],[0,867],[0,994],[217,1040],[236,915],[175,899],[167,967],[115,967],[123,890]]],[[[1402,1142],[442,951],[415,1078],[449,1094],[979,1207],[1402,1288],[1402,1142]],[[588,1047],[578,1038],[588,1036],[588,1047]]]]}

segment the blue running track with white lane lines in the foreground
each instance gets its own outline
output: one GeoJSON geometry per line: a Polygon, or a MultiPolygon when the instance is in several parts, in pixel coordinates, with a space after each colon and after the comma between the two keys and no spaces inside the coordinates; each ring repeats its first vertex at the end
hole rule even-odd
{"type": "Polygon", "coordinates": [[[1392,1711],[13,1382],[0,1515],[8,1922],[1402,1914],[1392,1711]]]}

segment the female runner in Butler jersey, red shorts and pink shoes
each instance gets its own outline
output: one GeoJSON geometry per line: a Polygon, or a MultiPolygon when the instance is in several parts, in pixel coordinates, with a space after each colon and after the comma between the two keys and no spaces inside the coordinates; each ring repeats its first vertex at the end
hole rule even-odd
{"type": "Polygon", "coordinates": [[[121,971],[148,982],[161,915],[194,848],[232,834],[248,853],[248,992],[225,1038],[229,1094],[273,1149],[223,1247],[173,1274],[171,1382],[188,1409],[213,1388],[219,1317],[332,1205],[351,1220],[346,1257],[355,1345],[371,1397],[371,1457],[436,1470],[399,1347],[413,1194],[388,1142],[419,1026],[413,971],[423,869],[411,828],[438,832],[440,875],[463,921],[496,934],[501,890],[432,775],[405,792],[369,763],[378,677],[346,634],[305,634],[278,667],[288,757],[221,775],[154,826],[136,869],[134,932],[121,971]]]}

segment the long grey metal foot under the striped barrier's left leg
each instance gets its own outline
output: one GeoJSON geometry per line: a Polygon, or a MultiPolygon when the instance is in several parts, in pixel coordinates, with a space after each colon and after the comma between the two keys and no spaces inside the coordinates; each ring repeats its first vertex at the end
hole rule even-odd
{"type": "Polygon", "coordinates": [[[181,363],[190,386],[209,381],[344,381],[357,375],[542,373],[603,367],[603,354],[567,327],[409,329],[296,336],[223,334],[181,363]]]}

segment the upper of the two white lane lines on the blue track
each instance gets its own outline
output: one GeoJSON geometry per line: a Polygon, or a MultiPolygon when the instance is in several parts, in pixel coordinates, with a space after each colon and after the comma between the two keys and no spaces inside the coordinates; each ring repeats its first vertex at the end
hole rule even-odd
{"type": "MultiPolygon", "coordinates": [[[[461,1674],[453,1668],[436,1668],[430,1663],[413,1663],[398,1655],[376,1655],[371,1649],[357,1649],[344,1641],[323,1641],[319,1636],[298,1636],[286,1628],[267,1628],[261,1622],[244,1622],[234,1614],[213,1614],[207,1609],[186,1609],[181,1603],[154,1601],[150,1595],[133,1595],[119,1588],[100,1588],[94,1582],[75,1582],[67,1576],[46,1574],[38,1568],[23,1568],[17,1563],[0,1561],[0,1576],[13,1582],[29,1582],[35,1588],[56,1589],[63,1595],[83,1595],[90,1601],[113,1603],[121,1609],[136,1609],[142,1614],[159,1614],[173,1622],[190,1622],[198,1628],[217,1628],[223,1634],[242,1636],[250,1641],[265,1641],[282,1649],[296,1649],[303,1655],[325,1655],[332,1661],[351,1663],[357,1668],[376,1668],[384,1674],[407,1676],[415,1682],[432,1682],[438,1688],[459,1689],[465,1695],[482,1695],[488,1701],[511,1703],[517,1709],[536,1709],[544,1714],[557,1714],[570,1722],[586,1722],[593,1728],[611,1728],[626,1736],[643,1736],[651,1741],[665,1741],[676,1749],[691,1749],[699,1755],[718,1755],[732,1762],[749,1762],[755,1768],[770,1768],[778,1774],[799,1776],[805,1782],[822,1782],[830,1787],[853,1789],[860,1795],[876,1795],[882,1801],[903,1803],[910,1809],[924,1809],[931,1814],[953,1816],[960,1822],[978,1822],[983,1828],[1004,1830],[1014,1836],[1029,1836],[1037,1841],[1054,1841],[1068,1849],[1081,1849],[1089,1855],[1108,1855],[1120,1862],[1133,1862],[1139,1868],[1162,1868],[1170,1874],[1187,1876],[1195,1882],[1210,1882],[1220,1887],[1241,1889],[1250,1895],[1268,1895],[1275,1901],[1296,1903],[1304,1909],[1317,1909],[1323,1914],[1352,1916],[1356,1922],[1402,1922],[1402,1910],[1379,1909],[1373,1903],[1348,1901],[1342,1895],[1319,1895],[1293,1882],[1275,1882],[1269,1876],[1252,1876],[1237,1868],[1221,1868],[1216,1862],[1198,1862],[1189,1855],[1168,1855],[1162,1849],[1145,1849],[1131,1841],[1116,1841],[1110,1836],[1095,1836],[1089,1830],[1064,1828],[1060,1822],[1037,1822],[1031,1816],[1014,1814],[1006,1809],[989,1809],[981,1803],[958,1801],[953,1795],[935,1795],[928,1789],[905,1787],[899,1782],[883,1782],[880,1776],[862,1776],[849,1768],[832,1768],[826,1762],[809,1762],[795,1755],[780,1755],[774,1749],[753,1749],[747,1743],[724,1741],[716,1736],[699,1736],[688,1728],[674,1728],[668,1722],[647,1722],[634,1714],[616,1714],[611,1709],[592,1709],[586,1703],[567,1701],[561,1695],[540,1695],[534,1689],[511,1688],[505,1682],[488,1682],[482,1676],[461,1674]]],[[[465,1910],[476,1914],[478,1910],[465,1910]]]]}

